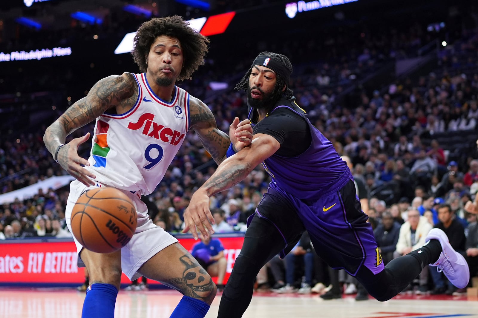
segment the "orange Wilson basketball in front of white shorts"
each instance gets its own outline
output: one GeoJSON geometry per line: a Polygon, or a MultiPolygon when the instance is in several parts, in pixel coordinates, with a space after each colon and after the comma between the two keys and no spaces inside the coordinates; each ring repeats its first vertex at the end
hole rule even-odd
{"type": "Polygon", "coordinates": [[[136,224],[133,202],[115,188],[87,191],[78,198],[71,213],[73,235],[96,253],[111,253],[128,244],[136,224]]]}

